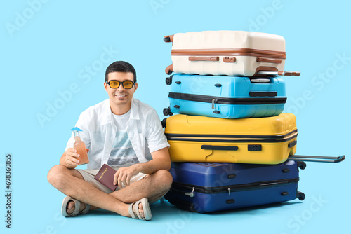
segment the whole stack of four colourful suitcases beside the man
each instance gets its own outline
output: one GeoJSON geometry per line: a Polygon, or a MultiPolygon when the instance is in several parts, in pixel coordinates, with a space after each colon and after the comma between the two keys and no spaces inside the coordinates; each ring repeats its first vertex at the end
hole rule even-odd
{"type": "Polygon", "coordinates": [[[303,200],[302,160],[293,156],[296,117],[282,113],[285,40],[259,32],[207,31],[166,36],[170,106],[162,124],[171,145],[173,184],[165,198],[194,212],[303,200]],[[173,116],[173,113],[178,113],[173,116]]]}

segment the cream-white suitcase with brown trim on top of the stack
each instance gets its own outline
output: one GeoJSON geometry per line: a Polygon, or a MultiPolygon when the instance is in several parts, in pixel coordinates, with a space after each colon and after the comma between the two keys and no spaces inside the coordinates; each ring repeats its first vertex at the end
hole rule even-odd
{"type": "Polygon", "coordinates": [[[165,36],[172,42],[166,74],[299,76],[284,71],[285,39],[261,32],[204,31],[165,36]]]}

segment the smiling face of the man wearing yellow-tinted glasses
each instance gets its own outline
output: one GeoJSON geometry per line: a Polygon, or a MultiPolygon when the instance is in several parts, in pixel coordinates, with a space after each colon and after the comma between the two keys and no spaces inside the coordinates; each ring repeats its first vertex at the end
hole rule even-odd
{"type": "MultiPolygon", "coordinates": [[[[111,72],[108,74],[108,81],[133,81],[133,73],[131,72],[111,72]]],[[[138,88],[138,83],[135,83],[131,89],[123,88],[120,84],[119,88],[111,88],[106,82],[104,83],[105,90],[110,97],[110,102],[113,104],[123,106],[130,105],[135,90],[138,88]]]]}

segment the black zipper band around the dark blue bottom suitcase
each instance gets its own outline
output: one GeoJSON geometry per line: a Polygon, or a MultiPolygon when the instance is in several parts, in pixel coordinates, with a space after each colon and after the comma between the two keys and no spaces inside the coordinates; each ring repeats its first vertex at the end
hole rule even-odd
{"type": "Polygon", "coordinates": [[[249,184],[237,184],[230,186],[220,186],[220,187],[204,187],[204,186],[194,186],[192,184],[183,184],[180,182],[173,182],[171,190],[177,190],[185,193],[185,195],[194,197],[194,193],[205,193],[205,194],[217,194],[217,193],[234,193],[239,191],[250,191],[263,188],[272,188],[277,186],[283,186],[286,184],[298,183],[299,178],[293,179],[280,179],[274,181],[261,181],[249,184]],[[187,193],[185,191],[191,191],[187,193]]]}

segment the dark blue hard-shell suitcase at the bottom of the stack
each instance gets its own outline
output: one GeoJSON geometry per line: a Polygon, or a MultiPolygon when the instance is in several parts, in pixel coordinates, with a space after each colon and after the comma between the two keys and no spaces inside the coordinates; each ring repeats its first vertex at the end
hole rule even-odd
{"type": "Polygon", "coordinates": [[[298,191],[304,162],[279,165],[172,163],[173,184],[165,199],[192,212],[216,212],[305,199],[298,191]]]}

